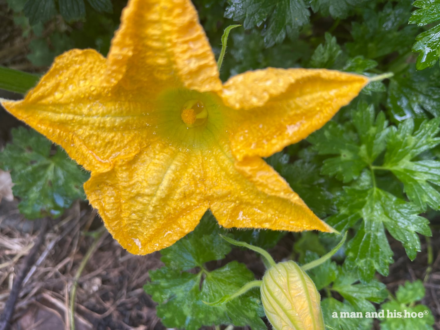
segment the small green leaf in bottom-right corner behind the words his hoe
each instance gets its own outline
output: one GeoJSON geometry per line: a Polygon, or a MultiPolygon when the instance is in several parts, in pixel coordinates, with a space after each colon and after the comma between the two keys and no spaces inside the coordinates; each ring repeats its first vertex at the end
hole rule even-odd
{"type": "Polygon", "coordinates": [[[425,288],[420,280],[405,282],[399,286],[396,299],[386,301],[381,305],[385,311],[385,317],[381,318],[382,330],[398,329],[433,329],[434,317],[429,308],[422,304],[416,304],[425,296],[425,288]],[[386,311],[401,313],[397,317],[387,317],[386,311]],[[412,315],[411,315],[412,314],[412,315]],[[414,315],[417,315],[414,317],[414,315]]]}

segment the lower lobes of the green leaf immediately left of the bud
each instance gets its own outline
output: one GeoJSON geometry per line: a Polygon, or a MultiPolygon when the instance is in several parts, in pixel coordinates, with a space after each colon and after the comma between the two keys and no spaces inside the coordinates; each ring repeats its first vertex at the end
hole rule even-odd
{"type": "Polygon", "coordinates": [[[254,280],[244,264],[232,261],[214,271],[197,274],[164,267],[150,271],[150,278],[144,289],[159,303],[157,313],[167,327],[198,330],[203,325],[233,324],[249,325],[253,330],[267,329],[260,319],[263,311],[258,289],[221,306],[203,302],[217,301],[254,280]]]}

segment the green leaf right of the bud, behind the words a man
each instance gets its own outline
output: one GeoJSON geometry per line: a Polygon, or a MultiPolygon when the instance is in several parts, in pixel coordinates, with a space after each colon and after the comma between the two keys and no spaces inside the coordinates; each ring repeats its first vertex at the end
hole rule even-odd
{"type": "Polygon", "coordinates": [[[325,298],[321,302],[321,308],[323,310],[324,323],[329,329],[371,329],[373,319],[356,317],[356,315],[360,316],[359,313],[362,313],[362,315],[364,313],[356,311],[348,301],[341,302],[334,298],[325,298]]]}

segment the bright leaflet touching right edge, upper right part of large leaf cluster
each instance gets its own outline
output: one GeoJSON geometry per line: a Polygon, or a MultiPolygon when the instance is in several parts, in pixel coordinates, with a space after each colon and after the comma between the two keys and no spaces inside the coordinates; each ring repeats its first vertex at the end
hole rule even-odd
{"type": "Polygon", "coordinates": [[[440,192],[430,183],[440,186],[440,161],[411,161],[425,150],[440,144],[440,118],[424,121],[414,132],[414,121],[408,119],[392,127],[389,134],[383,168],[389,169],[402,183],[408,198],[426,210],[426,205],[440,210],[440,192]]]}

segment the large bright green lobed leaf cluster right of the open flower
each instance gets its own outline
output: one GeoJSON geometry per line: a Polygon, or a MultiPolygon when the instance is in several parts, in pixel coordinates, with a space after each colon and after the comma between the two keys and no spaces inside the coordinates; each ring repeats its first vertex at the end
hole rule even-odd
{"type": "Polygon", "coordinates": [[[351,117],[344,126],[330,122],[308,141],[319,154],[337,154],[323,161],[323,174],[336,176],[344,183],[356,180],[339,194],[338,213],[327,222],[338,231],[347,231],[363,220],[348,242],[345,264],[357,271],[361,281],[369,282],[375,271],[388,275],[393,262],[385,229],[402,242],[411,260],[421,249],[417,233],[431,235],[429,221],[418,214],[426,205],[439,208],[440,194],[431,184],[440,183],[440,163],[411,160],[440,143],[436,137],[440,121],[425,121],[416,132],[411,118],[399,128],[388,127],[385,114],[379,113],[374,120],[373,106],[363,102],[351,117]],[[378,161],[381,166],[376,165],[378,161]],[[381,176],[388,183],[377,181],[376,172],[384,171],[400,180],[410,202],[379,186],[389,187],[389,182],[395,180],[388,172],[381,176]]]}

